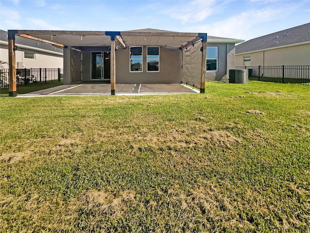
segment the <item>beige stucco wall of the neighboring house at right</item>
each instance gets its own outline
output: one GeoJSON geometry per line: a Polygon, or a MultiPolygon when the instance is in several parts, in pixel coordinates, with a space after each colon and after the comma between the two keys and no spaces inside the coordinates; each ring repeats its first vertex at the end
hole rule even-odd
{"type": "Polygon", "coordinates": [[[236,55],[236,66],[244,66],[243,57],[251,56],[250,66],[309,66],[310,44],[236,55]]]}

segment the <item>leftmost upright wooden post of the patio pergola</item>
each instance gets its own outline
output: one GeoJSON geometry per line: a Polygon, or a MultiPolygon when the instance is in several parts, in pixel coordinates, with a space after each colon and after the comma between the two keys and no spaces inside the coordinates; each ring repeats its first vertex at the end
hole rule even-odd
{"type": "Polygon", "coordinates": [[[9,42],[9,96],[16,97],[16,59],[15,59],[15,34],[9,42]]]}

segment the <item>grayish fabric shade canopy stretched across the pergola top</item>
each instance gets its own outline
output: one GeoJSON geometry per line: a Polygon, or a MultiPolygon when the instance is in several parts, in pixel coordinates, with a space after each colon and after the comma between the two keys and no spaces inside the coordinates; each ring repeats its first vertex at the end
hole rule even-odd
{"type": "Polygon", "coordinates": [[[25,35],[39,40],[50,41],[71,47],[110,46],[111,34],[120,36],[126,47],[130,46],[170,46],[184,47],[186,44],[200,40],[199,33],[178,33],[156,29],[141,29],[124,32],[101,31],[42,31],[17,30],[19,35],[25,35]]]}

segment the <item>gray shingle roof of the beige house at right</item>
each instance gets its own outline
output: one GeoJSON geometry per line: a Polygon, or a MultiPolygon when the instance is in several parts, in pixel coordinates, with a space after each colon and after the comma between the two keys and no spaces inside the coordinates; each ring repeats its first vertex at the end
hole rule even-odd
{"type": "Polygon", "coordinates": [[[310,42],[310,23],[263,35],[236,46],[236,54],[310,42]]]}

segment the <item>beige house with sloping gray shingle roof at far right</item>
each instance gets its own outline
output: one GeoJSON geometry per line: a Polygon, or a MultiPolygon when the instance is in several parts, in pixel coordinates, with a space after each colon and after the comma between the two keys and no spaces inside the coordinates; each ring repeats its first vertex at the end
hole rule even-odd
{"type": "Polygon", "coordinates": [[[235,50],[236,67],[309,66],[310,23],[248,40],[235,50]]]}

